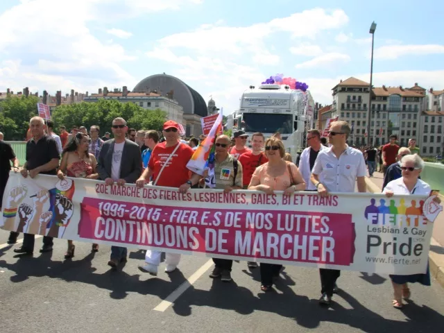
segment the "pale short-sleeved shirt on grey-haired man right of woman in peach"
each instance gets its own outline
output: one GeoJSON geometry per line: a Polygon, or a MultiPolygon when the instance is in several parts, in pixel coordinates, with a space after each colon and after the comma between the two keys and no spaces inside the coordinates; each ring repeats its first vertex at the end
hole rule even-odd
{"type": "Polygon", "coordinates": [[[330,192],[354,192],[357,177],[367,174],[366,161],[361,151],[347,146],[339,156],[332,147],[320,151],[311,173],[318,175],[330,192]]]}

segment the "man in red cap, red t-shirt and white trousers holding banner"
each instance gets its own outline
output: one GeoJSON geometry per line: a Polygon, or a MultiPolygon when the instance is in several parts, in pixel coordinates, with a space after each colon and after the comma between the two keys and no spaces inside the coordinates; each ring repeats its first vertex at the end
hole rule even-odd
{"type": "MultiPolygon", "coordinates": [[[[179,191],[185,193],[188,189],[196,185],[200,179],[195,173],[187,169],[187,163],[191,159],[194,151],[187,144],[180,142],[179,124],[176,121],[164,123],[163,135],[165,141],[157,144],[151,153],[148,167],[142,176],[136,181],[137,187],[144,187],[145,182],[153,176],[153,185],[165,187],[178,187],[179,191]]],[[[162,253],[156,250],[146,250],[144,266],[139,266],[139,270],[151,275],[157,275],[157,268],[160,265],[162,253]]],[[[165,271],[174,271],[180,261],[180,254],[167,253],[165,271]]]]}

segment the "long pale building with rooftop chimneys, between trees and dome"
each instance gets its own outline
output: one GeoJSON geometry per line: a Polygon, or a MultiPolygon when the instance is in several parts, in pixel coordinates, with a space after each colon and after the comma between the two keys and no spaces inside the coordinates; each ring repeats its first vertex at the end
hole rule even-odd
{"type": "Polygon", "coordinates": [[[178,101],[173,98],[173,91],[168,92],[167,96],[162,96],[158,94],[157,91],[129,92],[128,87],[124,86],[122,90],[114,89],[112,92],[108,91],[108,87],[100,88],[98,94],[91,94],[83,100],[86,102],[96,102],[99,101],[99,99],[115,99],[121,103],[135,103],[146,110],[160,109],[167,112],[167,118],[169,120],[177,121],[185,126],[183,108],[179,105],[178,101]]]}

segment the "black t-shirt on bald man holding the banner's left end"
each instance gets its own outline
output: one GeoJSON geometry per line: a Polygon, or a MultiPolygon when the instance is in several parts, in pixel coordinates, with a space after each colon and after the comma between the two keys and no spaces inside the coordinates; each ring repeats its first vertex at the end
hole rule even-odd
{"type": "MultiPolygon", "coordinates": [[[[59,159],[60,155],[58,154],[56,141],[52,137],[44,135],[37,143],[34,141],[34,138],[26,142],[26,168],[28,170],[41,167],[53,158],[59,159]]],[[[57,169],[44,171],[42,174],[56,175],[57,169]]]]}

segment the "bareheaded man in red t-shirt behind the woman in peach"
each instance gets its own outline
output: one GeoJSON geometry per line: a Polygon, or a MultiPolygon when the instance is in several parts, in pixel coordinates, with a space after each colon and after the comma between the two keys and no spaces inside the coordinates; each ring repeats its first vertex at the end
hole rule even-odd
{"type": "Polygon", "coordinates": [[[244,185],[244,189],[248,188],[250,185],[251,177],[255,172],[256,168],[259,165],[262,165],[268,162],[268,158],[266,158],[262,149],[264,148],[265,137],[262,133],[254,133],[251,136],[251,147],[252,151],[248,151],[243,153],[239,157],[239,162],[242,164],[242,170],[244,171],[244,176],[242,180],[242,185],[244,185]]]}

